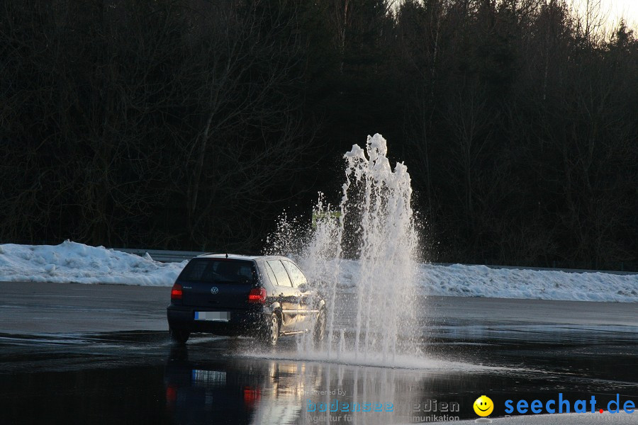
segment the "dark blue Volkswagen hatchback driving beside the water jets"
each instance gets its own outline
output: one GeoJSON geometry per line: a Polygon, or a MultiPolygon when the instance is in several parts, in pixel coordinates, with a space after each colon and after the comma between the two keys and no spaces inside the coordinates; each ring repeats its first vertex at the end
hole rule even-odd
{"type": "Polygon", "coordinates": [[[279,336],[325,337],[325,300],[301,269],[282,256],[206,254],[191,259],[171,290],[169,334],[249,335],[275,345],[279,336]]]}

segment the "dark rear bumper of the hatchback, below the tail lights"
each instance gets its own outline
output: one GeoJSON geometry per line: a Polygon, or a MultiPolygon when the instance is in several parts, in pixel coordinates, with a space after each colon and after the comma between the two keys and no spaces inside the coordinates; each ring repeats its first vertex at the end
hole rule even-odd
{"type": "Polygon", "coordinates": [[[166,309],[169,327],[191,332],[207,332],[218,335],[254,335],[264,329],[269,312],[264,309],[229,311],[228,322],[195,320],[195,312],[213,311],[198,307],[169,305],[166,309]]]}

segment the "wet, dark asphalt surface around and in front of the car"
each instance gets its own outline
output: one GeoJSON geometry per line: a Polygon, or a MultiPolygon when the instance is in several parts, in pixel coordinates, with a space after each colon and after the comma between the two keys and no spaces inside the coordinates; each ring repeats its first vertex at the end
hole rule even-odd
{"type": "MultiPolygon", "coordinates": [[[[571,409],[592,395],[596,410],[615,397],[638,404],[634,304],[428,297],[425,356],[405,353],[405,368],[386,368],[299,352],[294,338],[268,349],[202,335],[174,347],[169,288],[0,283],[0,294],[0,424],[474,421],[483,394],[491,417],[505,415],[508,399],[544,403],[559,393],[571,409]]],[[[351,319],[340,317],[343,327],[351,319]]],[[[638,424],[633,415],[498,423],[638,424]]]]}

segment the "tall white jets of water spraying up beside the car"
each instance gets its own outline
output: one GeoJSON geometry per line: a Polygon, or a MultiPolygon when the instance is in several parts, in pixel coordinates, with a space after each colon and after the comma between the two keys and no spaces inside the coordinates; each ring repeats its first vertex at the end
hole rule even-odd
{"type": "MultiPolygon", "coordinates": [[[[269,253],[294,251],[328,305],[328,358],[381,358],[418,352],[415,341],[415,266],[418,236],[410,205],[410,175],[403,163],[392,169],[386,140],[368,136],[366,149],[354,145],[337,213],[320,194],[313,229],[284,220],[270,238],[269,253]],[[291,241],[294,241],[292,243],[291,241]],[[348,280],[349,282],[345,282],[348,280]],[[354,287],[345,297],[342,288],[354,287]],[[354,296],[353,296],[354,295],[354,296]],[[344,301],[345,300],[345,301],[344,301]],[[337,302],[340,301],[340,302],[337,302]],[[354,336],[345,341],[344,327],[354,336]]],[[[300,351],[317,351],[310,336],[298,339],[300,351]]]]}

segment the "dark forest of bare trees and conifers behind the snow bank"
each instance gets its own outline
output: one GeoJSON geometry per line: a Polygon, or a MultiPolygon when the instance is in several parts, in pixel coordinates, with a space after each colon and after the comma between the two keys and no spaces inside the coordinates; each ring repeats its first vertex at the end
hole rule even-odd
{"type": "Polygon", "coordinates": [[[638,41],[595,8],[0,5],[2,243],[259,251],[375,132],[427,260],[638,263],[638,41]]]}

